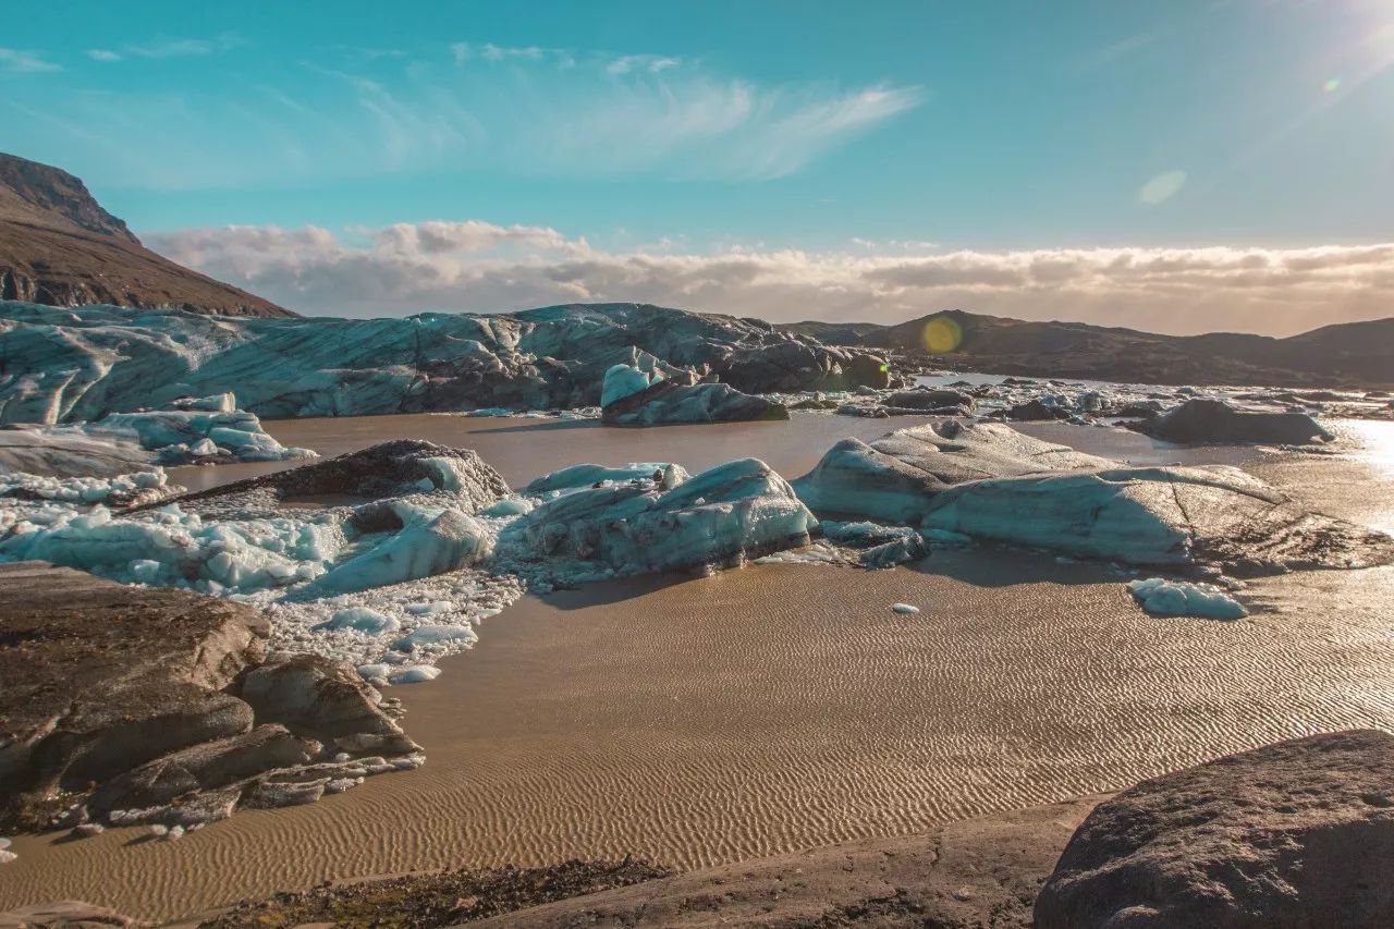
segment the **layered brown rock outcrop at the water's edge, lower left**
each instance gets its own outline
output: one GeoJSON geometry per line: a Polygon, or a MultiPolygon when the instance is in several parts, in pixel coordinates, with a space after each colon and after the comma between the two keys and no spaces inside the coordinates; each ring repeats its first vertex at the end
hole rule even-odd
{"type": "Polygon", "coordinates": [[[227,600],[0,565],[0,826],[194,826],[421,764],[353,667],[266,661],[268,635],[227,600]]]}

